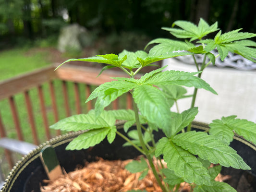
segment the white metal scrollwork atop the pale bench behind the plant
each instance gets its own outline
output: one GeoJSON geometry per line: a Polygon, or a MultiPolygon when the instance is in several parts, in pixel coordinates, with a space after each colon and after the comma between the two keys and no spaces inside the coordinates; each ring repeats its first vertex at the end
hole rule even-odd
{"type": "MultiPolygon", "coordinates": [[[[218,54],[217,50],[211,51],[215,56],[218,54]]],[[[194,64],[194,59],[192,55],[185,55],[176,57],[177,60],[180,60],[184,63],[188,64],[194,64]]],[[[198,54],[195,55],[195,60],[197,63],[203,63],[204,55],[198,54]]],[[[209,61],[209,59],[206,59],[206,63],[209,61]]],[[[216,58],[215,66],[217,67],[233,67],[239,70],[255,70],[256,69],[256,63],[253,61],[247,60],[241,55],[233,54],[229,52],[228,56],[221,61],[220,57],[216,58]]]]}

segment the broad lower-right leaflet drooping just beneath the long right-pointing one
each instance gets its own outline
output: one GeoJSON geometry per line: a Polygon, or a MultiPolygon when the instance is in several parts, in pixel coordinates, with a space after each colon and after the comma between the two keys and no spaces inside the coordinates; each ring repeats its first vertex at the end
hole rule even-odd
{"type": "Polygon", "coordinates": [[[188,183],[211,186],[207,168],[203,167],[196,157],[174,144],[170,139],[163,137],[158,141],[155,156],[163,154],[167,167],[188,183]]]}

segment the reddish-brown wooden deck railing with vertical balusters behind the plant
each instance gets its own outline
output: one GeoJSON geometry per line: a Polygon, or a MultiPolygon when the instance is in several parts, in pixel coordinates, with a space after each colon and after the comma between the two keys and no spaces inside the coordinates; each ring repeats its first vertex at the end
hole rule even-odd
{"type": "MultiPolygon", "coordinates": [[[[41,141],[38,137],[38,127],[35,123],[36,115],[39,115],[42,119],[43,123],[39,125],[39,129],[41,130],[44,128],[43,133],[42,131],[40,131],[40,134],[45,134],[46,139],[49,140],[50,138],[61,134],[60,131],[52,132],[52,130],[49,130],[49,116],[51,116],[51,114],[54,117],[54,122],[60,120],[60,114],[58,111],[58,108],[60,108],[60,104],[58,104],[57,102],[59,99],[56,98],[57,95],[59,97],[62,97],[61,99],[63,100],[63,105],[61,106],[61,108],[63,108],[63,111],[61,109],[61,112],[65,113],[65,117],[71,116],[73,114],[80,114],[85,111],[85,109],[81,107],[85,107],[85,97],[87,98],[94,88],[105,82],[113,81],[112,79],[110,79],[110,77],[125,76],[123,72],[116,71],[106,71],[98,76],[100,69],[90,67],[66,65],[59,68],[57,71],[54,71],[55,67],[56,66],[49,66],[44,69],[40,69],[0,82],[0,102],[1,100],[8,100],[8,102],[6,103],[9,103],[8,105],[10,106],[10,113],[12,115],[13,125],[15,127],[15,135],[13,137],[12,134],[12,138],[20,141],[26,141],[24,136],[26,136],[26,138],[28,137],[23,133],[24,128],[22,127],[21,122],[24,121],[24,119],[20,119],[19,117],[19,106],[17,106],[17,104],[15,103],[16,95],[22,94],[24,97],[24,105],[31,129],[33,143],[38,145],[45,141],[41,141]],[[59,85],[61,84],[61,87],[58,87],[58,90],[54,86],[56,81],[59,82],[59,85]],[[73,84],[73,90],[70,90],[70,86],[68,86],[67,84],[73,84]],[[50,99],[48,98],[48,100],[51,101],[50,106],[47,106],[45,103],[46,97],[44,93],[45,89],[43,88],[44,86],[49,87],[48,90],[50,99]],[[85,93],[81,93],[81,90],[79,89],[79,87],[81,86],[84,87],[85,93]],[[30,96],[30,92],[32,89],[37,90],[37,103],[40,106],[40,111],[34,110],[35,106],[33,106],[33,102],[31,101],[30,96]],[[57,93],[57,91],[61,93],[57,93]],[[72,92],[74,95],[74,106],[71,106],[70,103],[71,97],[68,94],[70,92],[72,92]],[[84,96],[82,99],[81,95],[84,96]],[[71,110],[72,108],[74,108],[74,110],[71,110]]],[[[122,104],[123,103],[125,103],[125,105],[122,105],[124,107],[120,107],[120,101],[116,100],[113,102],[112,108],[132,108],[132,98],[129,93],[126,94],[125,99],[122,101],[122,104]]],[[[86,111],[91,108],[93,108],[92,101],[86,104],[86,111]]],[[[3,114],[5,113],[5,111],[1,111],[0,108],[0,137],[8,137],[9,128],[5,126],[5,120],[2,119],[1,113],[3,114]]],[[[29,128],[26,127],[26,129],[29,128]]],[[[12,168],[12,154],[9,150],[5,150],[4,153],[10,168],[12,168]]]]}

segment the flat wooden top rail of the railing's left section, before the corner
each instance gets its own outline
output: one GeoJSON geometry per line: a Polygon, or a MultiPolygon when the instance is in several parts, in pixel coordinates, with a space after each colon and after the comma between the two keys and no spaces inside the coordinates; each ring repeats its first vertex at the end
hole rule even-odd
{"type": "Polygon", "coordinates": [[[0,99],[24,92],[30,88],[37,87],[46,81],[56,78],[54,66],[38,69],[17,77],[13,77],[0,82],[0,99]]]}

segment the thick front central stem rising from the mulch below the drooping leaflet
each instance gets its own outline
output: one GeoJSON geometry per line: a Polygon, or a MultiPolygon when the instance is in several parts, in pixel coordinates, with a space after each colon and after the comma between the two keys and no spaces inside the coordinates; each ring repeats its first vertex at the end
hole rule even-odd
{"type": "Polygon", "coordinates": [[[139,136],[139,140],[140,140],[140,144],[142,146],[142,149],[146,153],[146,158],[148,160],[149,166],[152,169],[152,172],[153,172],[153,174],[154,174],[154,176],[155,176],[155,178],[158,182],[159,187],[162,189],[163,192],[168,192],[168,190],[166,190],[166,188],[163,186],[163,184],[160,180],[160,177],[159,177],[158,172],[157,172],[157,170],[154,166],[154,163],[152,161],[151,156],[148,154],[148,150],[146,148],[146,144],[144,143],[143,136],[142,136],[142,130],[141,130],[140,121],[139,121],[138,108],[137,108],[136,103],[134,102],[134,99],[133,99],[133,105],[134,105],[134,114],[135,114],[135,120],[136,120],[136,128],[137,128],[137,132],[138,132],[138,136],[139,136]]]}

